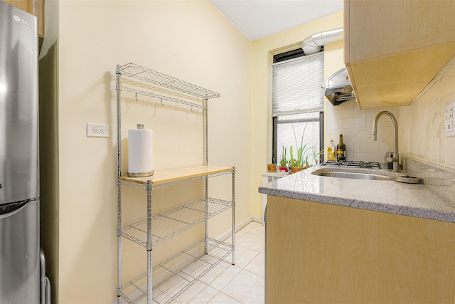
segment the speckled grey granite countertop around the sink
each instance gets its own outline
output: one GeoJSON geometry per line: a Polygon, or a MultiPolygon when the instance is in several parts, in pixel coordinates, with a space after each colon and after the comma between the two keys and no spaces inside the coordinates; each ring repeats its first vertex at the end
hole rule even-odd
{"type": "Polygon", "coordinates": [[[386,169],[318,165],[264,184],[259,187],[259,193],[455,223],[455,174],[444,172],[443,177],[441,174],[435,176],[434,169],[425,169],[427,167],[414,161],[408,163],[417,163],[417,167],[424,168],[419,172],[421,175],[415,174],[411,168],[409,172],[412,174],[407,171],[397,173],[386,169]],[[392,177],[410,174],[422,177],[424,183],[405,184],[392,180],[347,179],[312,174],[322,171],[373,173],[392,177]]]}

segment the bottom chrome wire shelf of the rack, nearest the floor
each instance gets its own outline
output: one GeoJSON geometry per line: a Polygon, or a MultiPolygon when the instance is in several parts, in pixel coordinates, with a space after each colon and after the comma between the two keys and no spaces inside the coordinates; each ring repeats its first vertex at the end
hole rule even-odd
{"type": "MultiPolygon", "coordinates": [[[[153,268],[154,302],[171,303],[232,253],[231,244],[208,239],[205,254],[205,241],[201,239],[153,268]]],[[[144,301],[146,284],[147,273],[142,273],[124,284],[122,298],[128,303],[144,301]]]]}

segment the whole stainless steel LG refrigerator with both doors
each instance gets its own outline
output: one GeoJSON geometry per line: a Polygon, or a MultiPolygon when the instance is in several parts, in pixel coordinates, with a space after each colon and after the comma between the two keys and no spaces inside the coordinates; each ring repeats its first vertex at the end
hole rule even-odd
{"type": "Polygon", "coordinates": [[[36,17],[0,1],[0,303],[40,303],[36,17]]]}

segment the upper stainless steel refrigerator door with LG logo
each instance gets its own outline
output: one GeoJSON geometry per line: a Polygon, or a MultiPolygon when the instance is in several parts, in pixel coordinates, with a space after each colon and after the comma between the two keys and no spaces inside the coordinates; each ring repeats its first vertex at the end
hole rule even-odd
{"type": "Polygon", "coordinates": [[[0,1],[0,204],[38,198],[36,17],[0,1]]]}

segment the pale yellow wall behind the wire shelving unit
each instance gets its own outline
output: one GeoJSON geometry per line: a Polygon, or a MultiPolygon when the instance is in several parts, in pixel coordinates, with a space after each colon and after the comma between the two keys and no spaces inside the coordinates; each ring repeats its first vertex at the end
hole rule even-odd
{"type": "MultiPolygon", "coordinates": [[[[54,214],[58,233],[54,231],[51,240],[58,243],[58,256],[48,261],[59,260],[52,267],[53,286],[59,290],[59,303],[113,303],[117,299],[115,65],[139,63],[221,94],[209,100],[209,164],[236,167],[235,216],[240,223],[251,217],[252,43],[208,1],[50,1],[46,5],[58,11],[46,14],[46,26],[59,29],[54,41],[45,42],[45,48],[54,42],[58,46],[59,179],[54,187],[58,187],[59,211],[54,214]],[[87,122],[110,125],[111,136],[86,137],[87,122]]],[[[126,99],[122,137],[137,122],[154,130],[154,169],[202,164],[200,113],[173,105],[161,108],[159,101],[158,106],[149,106],[126,99]]],[[[230,194],[229,185],[227,191],[225,184],[214,184],[215,192],[230,194]]],[[[132,195],[132,214],[141,213],[136,208],[144,206],[140,195],[132,195]]],[[[182,196],[185,199],[184,192],[182,196]]],[[[214,236],[228,231],[230,217],[213,222],[212,228],[214,236]]],[[[141,251],[143,261],[145,252],[141,251]]]]}

